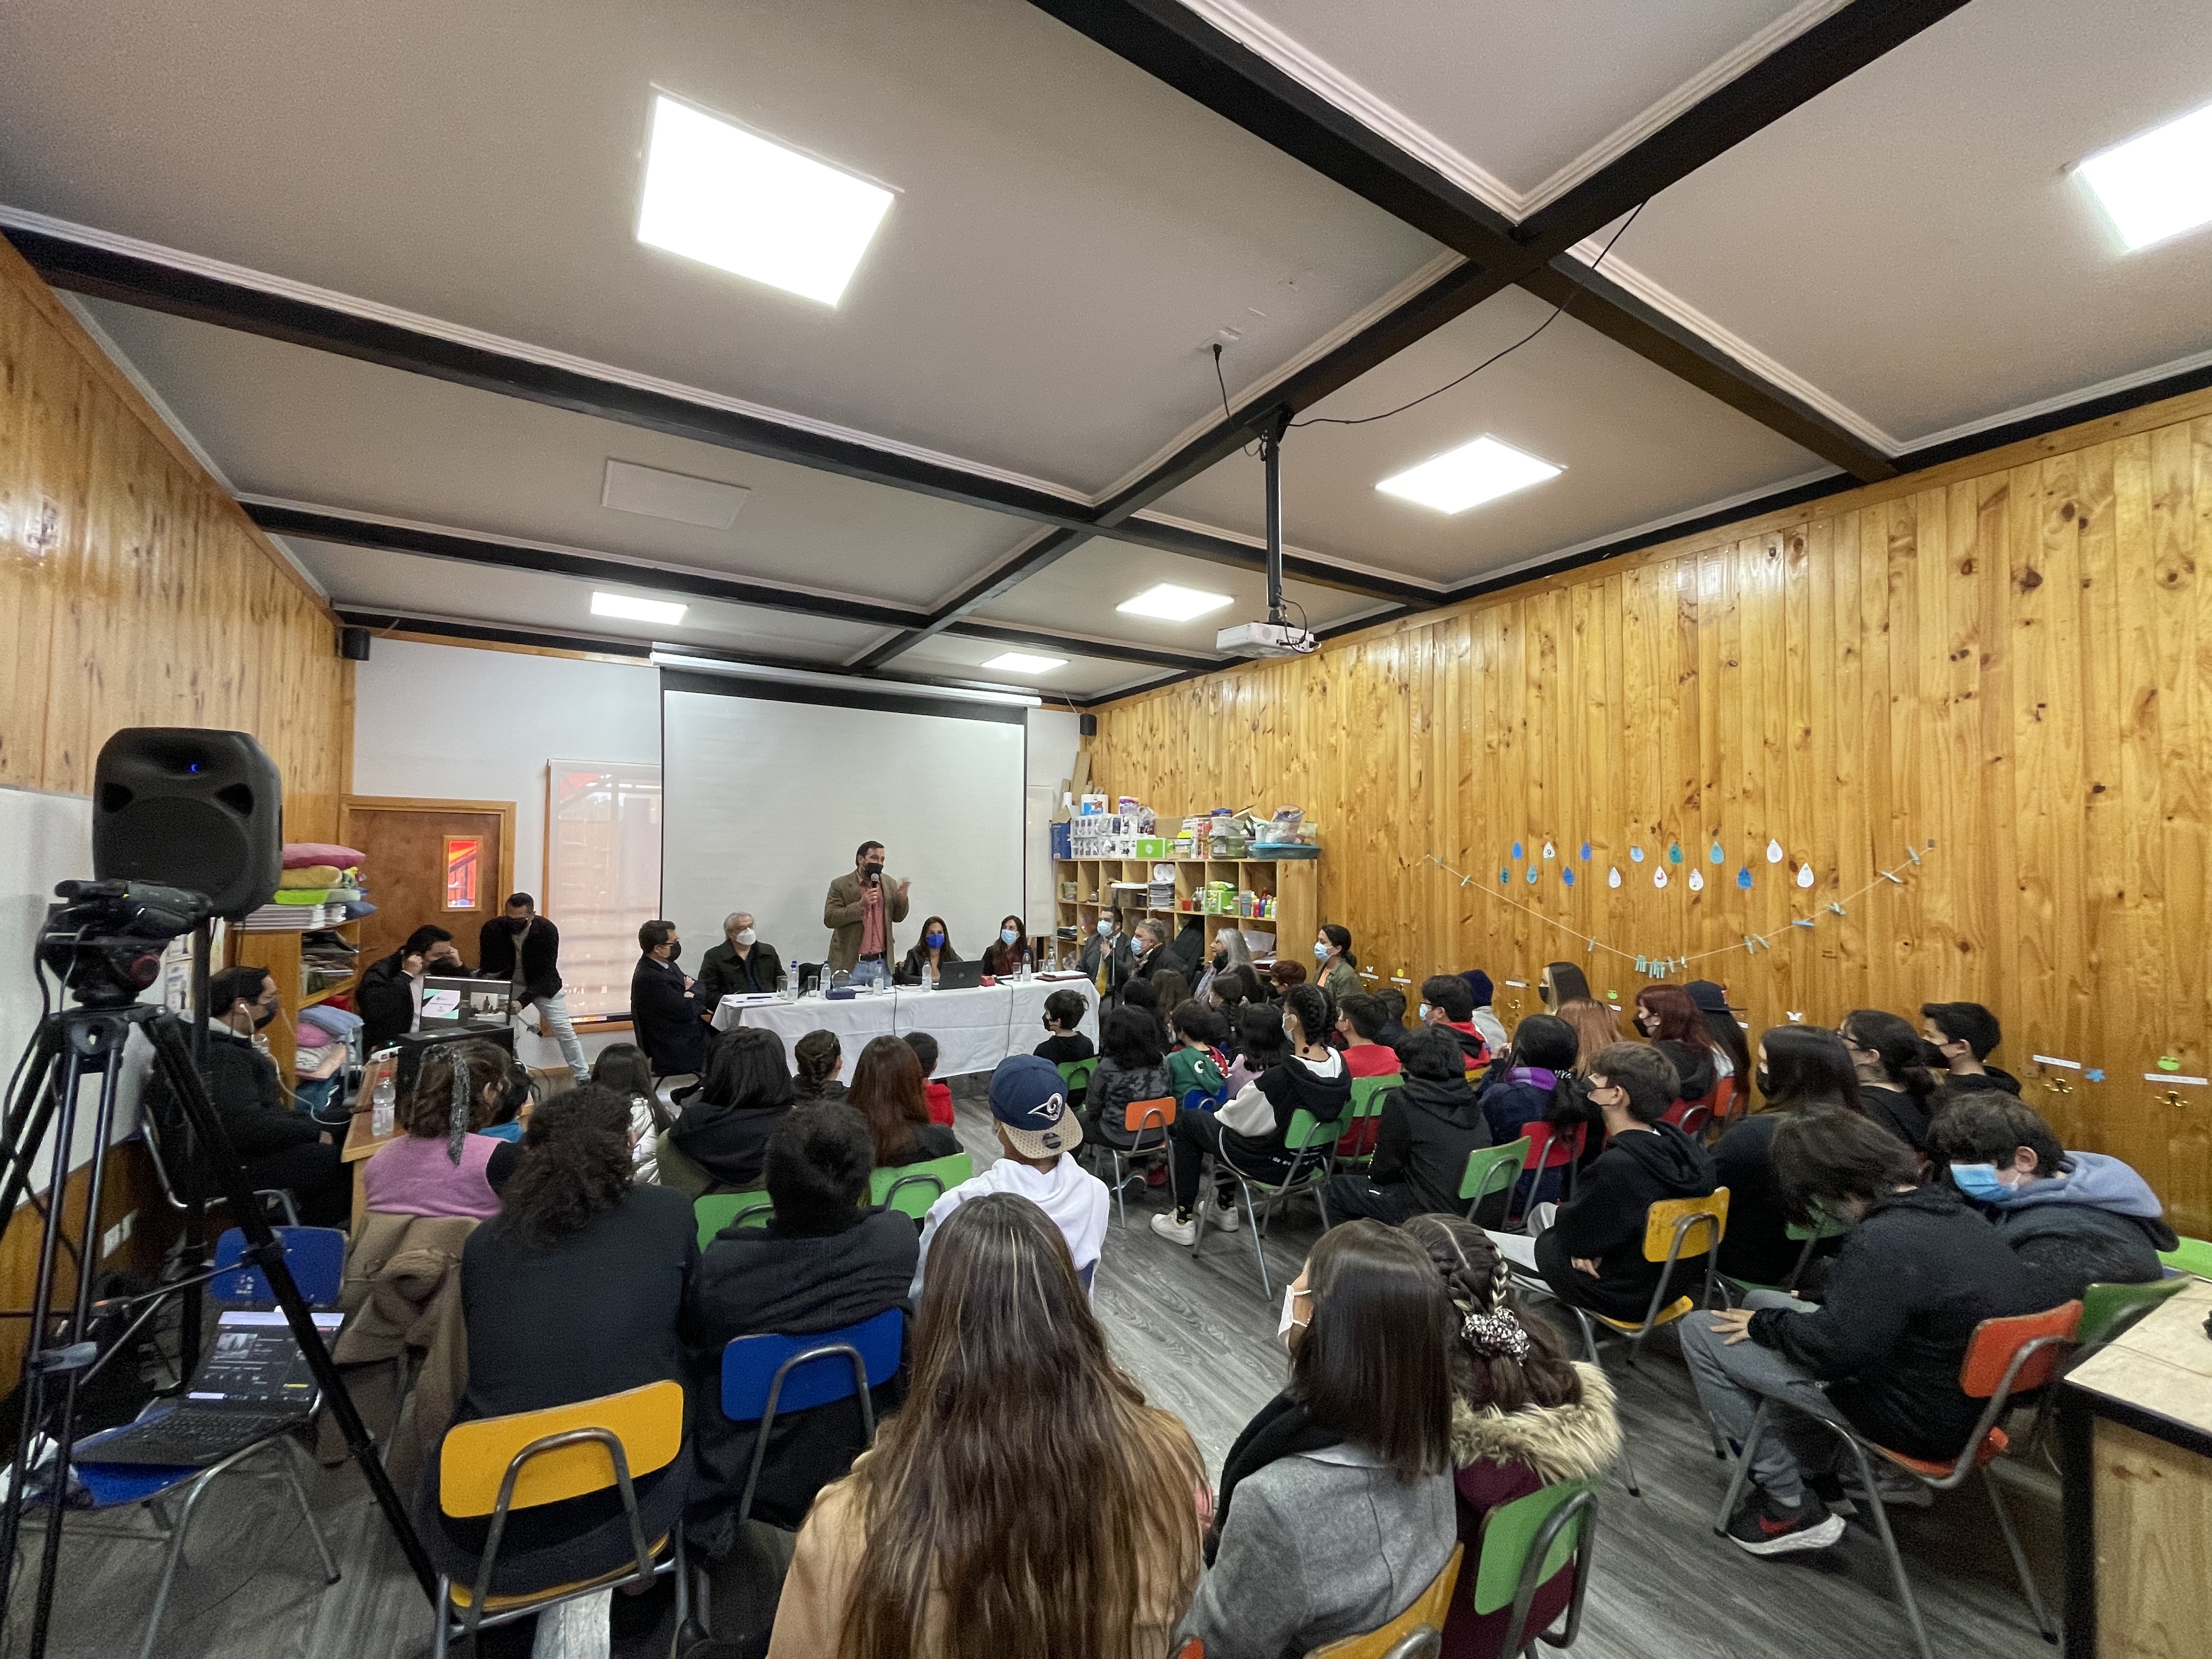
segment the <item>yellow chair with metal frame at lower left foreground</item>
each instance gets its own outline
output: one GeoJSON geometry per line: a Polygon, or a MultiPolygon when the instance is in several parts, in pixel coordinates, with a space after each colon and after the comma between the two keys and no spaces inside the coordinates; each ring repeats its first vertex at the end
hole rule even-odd
{"type": "Polygon", "coordinates": [[[491,1526],[471,1588],[453,1584],[445,1573],[438,1575],[434,1659],[445,1659],[449,1641],[469,1641],[489,1626],[513,1624],[615,1584],[650,1584],[661,1573],[675,1577],[681,1648],[692,1635],[684,1524],[677,1522],[661,1540],[648,1542],[637,1513],[637,1491],[630,1484],[637,1475],[666,1469],[681,1449],[679,1383],[648,1383],[641,1389],[577,1405],[453,1425],[438,1453],[438,1509],[456,1520],[489,1515],[491,1526]],[[622,1493],[622,1511],[630,1522],[630,1559],[573,1584],[526,1595],[491,1595],[500,1537],[513,1511],[557,1504],[608,1486],[622,1493]]]}

